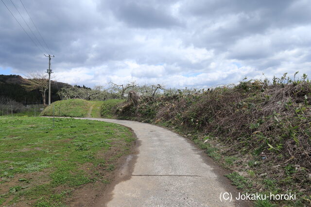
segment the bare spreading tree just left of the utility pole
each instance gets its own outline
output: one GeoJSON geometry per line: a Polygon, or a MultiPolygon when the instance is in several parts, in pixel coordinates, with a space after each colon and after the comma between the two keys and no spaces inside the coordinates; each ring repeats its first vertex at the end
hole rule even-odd
{"type": "Polygon", "coordinates": [[[42,95],[43,105],[46,106],[45,95],[49,89],[49,80],[46,73],[30,74],[27,79],[23,79],[22,87],[26,91],[39,90],[42,95]]]}

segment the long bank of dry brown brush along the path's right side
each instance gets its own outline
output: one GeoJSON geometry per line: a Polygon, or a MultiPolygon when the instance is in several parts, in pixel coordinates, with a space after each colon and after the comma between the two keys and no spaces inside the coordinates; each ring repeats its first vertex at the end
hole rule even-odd
{"type": "Polygon", "coordinates": [[[142,97],[137,108],[126,102],[116,112],[119,118],[173,127],[193,139],[236,172],[228,177],[239,189],[296,192],[295,204],[287,204],[310,204],[311,83],[306,75],[142,97]]]}

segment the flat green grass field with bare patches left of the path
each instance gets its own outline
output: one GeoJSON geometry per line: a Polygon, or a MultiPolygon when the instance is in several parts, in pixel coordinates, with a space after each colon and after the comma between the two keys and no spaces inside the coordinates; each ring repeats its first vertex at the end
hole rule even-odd
{"type": "Polygon", "coordinates": [[[81,187],[103,189],[134,140],[126,127],[72,118],[53,127],[52,118],[2,116],[0,126],[0,206],[84,199],[81,187]]]}

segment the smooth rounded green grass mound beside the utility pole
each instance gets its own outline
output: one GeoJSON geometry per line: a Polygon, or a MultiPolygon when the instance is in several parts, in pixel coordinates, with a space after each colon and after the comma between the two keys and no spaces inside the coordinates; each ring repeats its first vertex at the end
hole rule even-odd
{"type": "Polygon", "coordinates": [[[84,99],[55,101],[46,107],[40,115],[52,116],[54,107],[55,116],[86,117],[91,106],[92,103],[84,99]]]}

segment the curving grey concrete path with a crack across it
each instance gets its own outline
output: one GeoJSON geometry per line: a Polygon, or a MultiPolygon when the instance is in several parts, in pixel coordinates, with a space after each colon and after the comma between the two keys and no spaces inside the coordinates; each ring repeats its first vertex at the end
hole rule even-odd
{"type": "MultiPolygon", "coordinates": [[[[249,203],[221,202],[220,194],[238,191],[219,167],[188,139],[162,127],[134,121],[87,118],[131,127],[138,153],[129,156],[114,184],[95,206],[225,207],[249,203]],[[132,163],[132,169],[131,164],[132,163]]],[[[226,196],[225,196],[226,197],[226,196]]]]}

